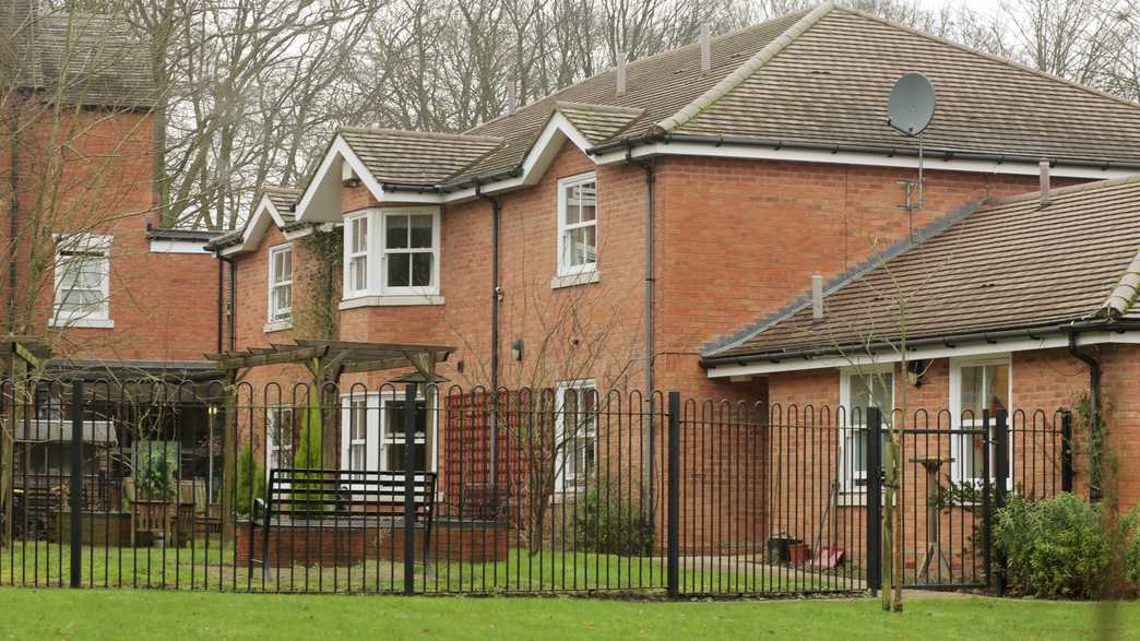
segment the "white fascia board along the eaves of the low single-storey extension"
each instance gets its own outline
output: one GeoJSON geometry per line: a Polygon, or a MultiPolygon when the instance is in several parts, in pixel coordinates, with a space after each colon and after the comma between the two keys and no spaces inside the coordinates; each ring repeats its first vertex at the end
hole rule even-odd
{"type": "MultiPolygon", "coordinates": [[[[1078,346],[1091,344],[1140,344],[1140,333],[1137,332],[1090,332],[1077,335],[1078,346]]],[[[1017,339],[1010,341],[997,341],[993,343],[977,342],[963,344],[961,347],[931,347],[907,351],[907,360],[927,360],[931,358],[956,358],[990,356],[1009,354],[1012,351],[1033,351],[1041,349],[1057,349],[1068,347],[1068,335],[1053,334],[1042,339],[1017,339]]],[[[709,367],[707,375],[710,379],[726,379],[728,376],[758,376],[767,374],[780,374],[784,372],[804,372],[807,370],[830,370],[838,367],[853,367],[885,363],[899,363],[902,356],[897,351],[881,352],[874,356],[849,356],[849,357],[824,357],[824,358],[788,358],[780,363],[746,363],[741,365],[717,365],[709,367]]]]}

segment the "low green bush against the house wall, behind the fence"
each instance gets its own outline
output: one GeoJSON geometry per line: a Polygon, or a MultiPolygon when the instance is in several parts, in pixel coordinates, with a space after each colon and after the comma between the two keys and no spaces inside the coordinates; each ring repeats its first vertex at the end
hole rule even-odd
{"type": "Polygon", "coordinates": [[[575,533],[580,549],[602,554],[645,555],[653,547],[653,527],[642,510],[640,493],[617,484],[600,484],[575,502],[575,533]]]}

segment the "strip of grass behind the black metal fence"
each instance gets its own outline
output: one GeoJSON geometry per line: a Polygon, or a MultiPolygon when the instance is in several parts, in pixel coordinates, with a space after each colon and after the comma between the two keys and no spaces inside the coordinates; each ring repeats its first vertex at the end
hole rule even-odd
{"type": "MultiPolygon", "coordinates": [[[[368,559],[340,567],[235,566],[233,545],[83,549],[83,584],[92,587],[209,589],[269,592],[401,592],[404,565],[368,559]]],[[[0,549],[0,585],[47,587],[68,582],[66,545],[28,542],[0,549]]],[[[498,562],[416,566],[416,590],[425,592],[540,593],[665,592],[665,560],[545,551],[531,557],[512,549],[498,562]]],[[[844,577],[823,577],[739,559],[683,558],[679,582],[687,593],[790,593],[849,591],[844,577]]]]}

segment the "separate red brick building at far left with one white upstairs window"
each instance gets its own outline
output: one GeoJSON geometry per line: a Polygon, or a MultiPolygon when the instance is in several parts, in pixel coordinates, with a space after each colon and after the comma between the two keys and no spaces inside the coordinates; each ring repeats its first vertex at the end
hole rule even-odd
{"type": "MultiPolygon", "coordinates": [[[[202,245],[217,234],[160,225],[161,100],[150,48],[125,33],[109,17],[41,11],[31,0],[0,9],[0,331],[47,346],[44,380],[209,381],[217,374],[204,355],[219,348],[222,310],[219,266],[202,245]]],[[[7,358],[3,379],[18,362],[7,358]]],[[[100,389],[120,393],[113,383],[100,389]]],[[[54,443],[67,412],[60,387],[41,383],[34,403],[40,422],[17,440],[65,452],[54,443]]],[[[178,438],[189,478],[205,466],[206,412],[185,411],[178,438]]],[[[33,471],[66,465],[50,453],[28,460],[39,462],[33,471]]]]}

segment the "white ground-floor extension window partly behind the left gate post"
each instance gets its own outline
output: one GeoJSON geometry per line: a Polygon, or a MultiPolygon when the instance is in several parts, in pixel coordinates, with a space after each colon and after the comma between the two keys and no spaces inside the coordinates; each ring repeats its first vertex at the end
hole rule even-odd
{"type": "Polygon", "coordinates": [[[891,368],[853,371],[842,376],[841,405],[849,417],[847,429],[841,430],[842,486],[845,489],[862,489],[866,485],[868,407],[882,412],[883,424],[880,452],[887,446],[887,424],[895,406],[895,375],[891,368]]]}

